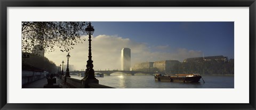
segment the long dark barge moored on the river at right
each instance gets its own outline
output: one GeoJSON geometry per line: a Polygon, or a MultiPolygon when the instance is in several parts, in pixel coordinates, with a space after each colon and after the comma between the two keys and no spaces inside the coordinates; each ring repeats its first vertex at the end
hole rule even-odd
{"type": "MultiPolygon", "coordinates": [[[[199,74],[175,74],[175,76],[163,76],[161,74],[155,75],[155,80],[158,81],[180,81],[180,82],[198,82],[202,78],[199,74]]],[[[203,80],[203,78],[202,78],[203,80]]],[[[204,80],[203,80],[204,81],[204,80]]]]}

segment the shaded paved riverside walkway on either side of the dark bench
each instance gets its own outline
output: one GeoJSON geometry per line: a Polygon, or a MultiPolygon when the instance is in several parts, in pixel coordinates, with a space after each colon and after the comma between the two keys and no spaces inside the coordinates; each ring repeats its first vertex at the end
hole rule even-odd
{"type": "MultiPolygon", "coordinates": [[[[56,77],[55,77],[56,78],[56,77]]],[[[37,81],[31,82],[29,84],[23,85],[22,88],[44,88],[44,85],[47,84],[47,79],[39,79],[37,81]]],[[[64,83],[60,78],[56,78],[56,84],[60,85],[61,88],[73,88],[70,85],[64,83]]]]}

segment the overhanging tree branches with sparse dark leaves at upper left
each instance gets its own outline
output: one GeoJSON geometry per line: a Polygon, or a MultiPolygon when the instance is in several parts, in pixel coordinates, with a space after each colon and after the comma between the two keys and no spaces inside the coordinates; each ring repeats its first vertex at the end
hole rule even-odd
{"type": "Polygon", "coordinates": [[[35,45],[42,45],[48,52],[68,52],[72,45],[83,43],[87,22],[22,22],[22,52],[31,52],[35,45]]]}

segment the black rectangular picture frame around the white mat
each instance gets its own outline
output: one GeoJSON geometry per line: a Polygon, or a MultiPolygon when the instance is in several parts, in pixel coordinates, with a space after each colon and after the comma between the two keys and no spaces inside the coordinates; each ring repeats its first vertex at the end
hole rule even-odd
{"type": "MultiPolygon", "coordinates": [[[[1,109],[255,109],[255,0],[0,0],[0,108],[1,109]],[[250,103],[249,104],[13,104],[7,101],[7,7],[249,7],[250,103]]],[[[17,93],[18,94],[18,93],[17,93]]],[[[238,94],[239,95],[239,94],[238,94]]],[[[236,96],[234,96],[235,98],[236,96]]],[[[152,96],[152,99],[154,97],[152,96]]]]}

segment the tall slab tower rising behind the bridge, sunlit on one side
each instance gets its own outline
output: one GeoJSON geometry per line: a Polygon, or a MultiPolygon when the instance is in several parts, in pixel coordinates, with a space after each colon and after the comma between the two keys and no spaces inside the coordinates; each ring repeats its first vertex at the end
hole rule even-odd
{"type": "Polygon", "coordinates": [[[123,48],[121,52],[121,70],[129,71],[131,68],[131,49],[123,48]]]}

